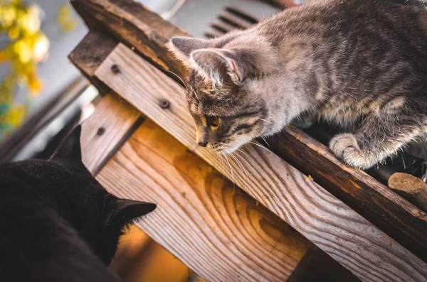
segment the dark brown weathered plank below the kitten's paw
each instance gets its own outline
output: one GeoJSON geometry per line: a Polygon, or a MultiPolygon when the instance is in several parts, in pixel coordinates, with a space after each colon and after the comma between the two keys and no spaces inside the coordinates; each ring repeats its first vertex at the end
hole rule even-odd
{"type": "Polygon", "coordinates": [[[426,212],[364,171],[342,163],[329,148],[298,129],[288,127],[267,141],[278,156],[427,261],[426,212]]]}

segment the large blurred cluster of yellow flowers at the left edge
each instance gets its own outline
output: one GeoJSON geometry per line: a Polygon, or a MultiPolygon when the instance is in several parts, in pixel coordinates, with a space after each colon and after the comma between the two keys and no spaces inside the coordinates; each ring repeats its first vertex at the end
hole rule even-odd
{"type": "Polygon", "coordinates": [[[14,89],[28,87],[31,95],[43,89],[37,75],[37,65],[46,60],[49,40],[40,30],[42,9],[26,5],[21,0],[0,0],[0,33],[9,44],[0,50],[0,63],[9,63],[11,72],[0,84],[0,139],[19,126],[26,116],[27,106],[14,102],[14,89]]]}

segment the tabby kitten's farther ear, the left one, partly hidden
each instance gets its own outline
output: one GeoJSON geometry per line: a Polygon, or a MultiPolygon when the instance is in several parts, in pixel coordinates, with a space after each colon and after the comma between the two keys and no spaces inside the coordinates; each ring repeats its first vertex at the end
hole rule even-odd
{"type": "Polygon", "coordinates": [[[191,52],[202,48],[208,48],[209,44],[209,40],[206,39],[178,36],[172,38],[167,47],[178,60],[189,67],[191,52]]]}

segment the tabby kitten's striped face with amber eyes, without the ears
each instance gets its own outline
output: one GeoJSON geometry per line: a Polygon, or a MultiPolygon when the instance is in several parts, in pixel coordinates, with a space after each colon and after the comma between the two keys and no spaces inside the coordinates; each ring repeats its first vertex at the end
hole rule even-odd
{"type": "Polygon", "coordinates": [[[196,142],[219,153],[231,153],[268,131],[263,99],[252,99],[248,87],[218,87],[193,72],[186,103],[196,122],[196,142]]]}

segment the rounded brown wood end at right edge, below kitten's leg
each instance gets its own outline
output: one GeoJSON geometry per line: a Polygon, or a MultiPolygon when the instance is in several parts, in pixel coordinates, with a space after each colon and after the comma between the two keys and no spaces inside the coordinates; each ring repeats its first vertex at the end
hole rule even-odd
{"type": "Polygon", "coordinates": [[[389,178],[389,188],[427,211],[427,184],[420,178],[406,173],[394,173],[389,178]]]}

